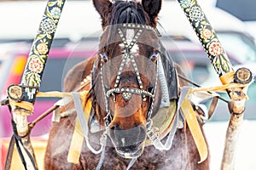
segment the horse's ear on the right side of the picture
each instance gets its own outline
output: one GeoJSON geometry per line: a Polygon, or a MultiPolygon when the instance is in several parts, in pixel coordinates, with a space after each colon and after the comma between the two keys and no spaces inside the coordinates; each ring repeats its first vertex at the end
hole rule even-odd
{"type": "Polygon", "coordinates": [[[142,0],[143,8],[148,13],[150,20],[156,24],[157,15],[162,6],[162,0],[142,0]]]}

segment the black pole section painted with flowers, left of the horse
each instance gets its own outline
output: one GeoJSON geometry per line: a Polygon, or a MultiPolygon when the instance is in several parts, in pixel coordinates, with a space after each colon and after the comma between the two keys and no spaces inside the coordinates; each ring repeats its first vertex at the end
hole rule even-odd
{"type": "MultiPolygon", "coordinates": [[[[61,11],[65,0],[49,0],[44,11],[43,20],[38,29],[38,35],[32,43],[32,49],[26,63],[21,84],[31,87],[40,87],[44,66],[49,54],[49,48],[53,41],[61,11]]],[[[33,102],[36,88],[26,88],[25,100],[33,102]]]]}

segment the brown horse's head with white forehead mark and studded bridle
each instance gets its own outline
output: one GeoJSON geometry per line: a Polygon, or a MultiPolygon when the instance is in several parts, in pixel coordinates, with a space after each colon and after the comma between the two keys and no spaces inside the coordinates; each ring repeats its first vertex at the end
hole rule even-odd
{"type": "Polygon", "coordinates": [[[160,40],[155,27],[161,1],[93,3],[103,28],[92,72],[93,107],[119,156],[137,157],[160,103],[160,40]]]}

